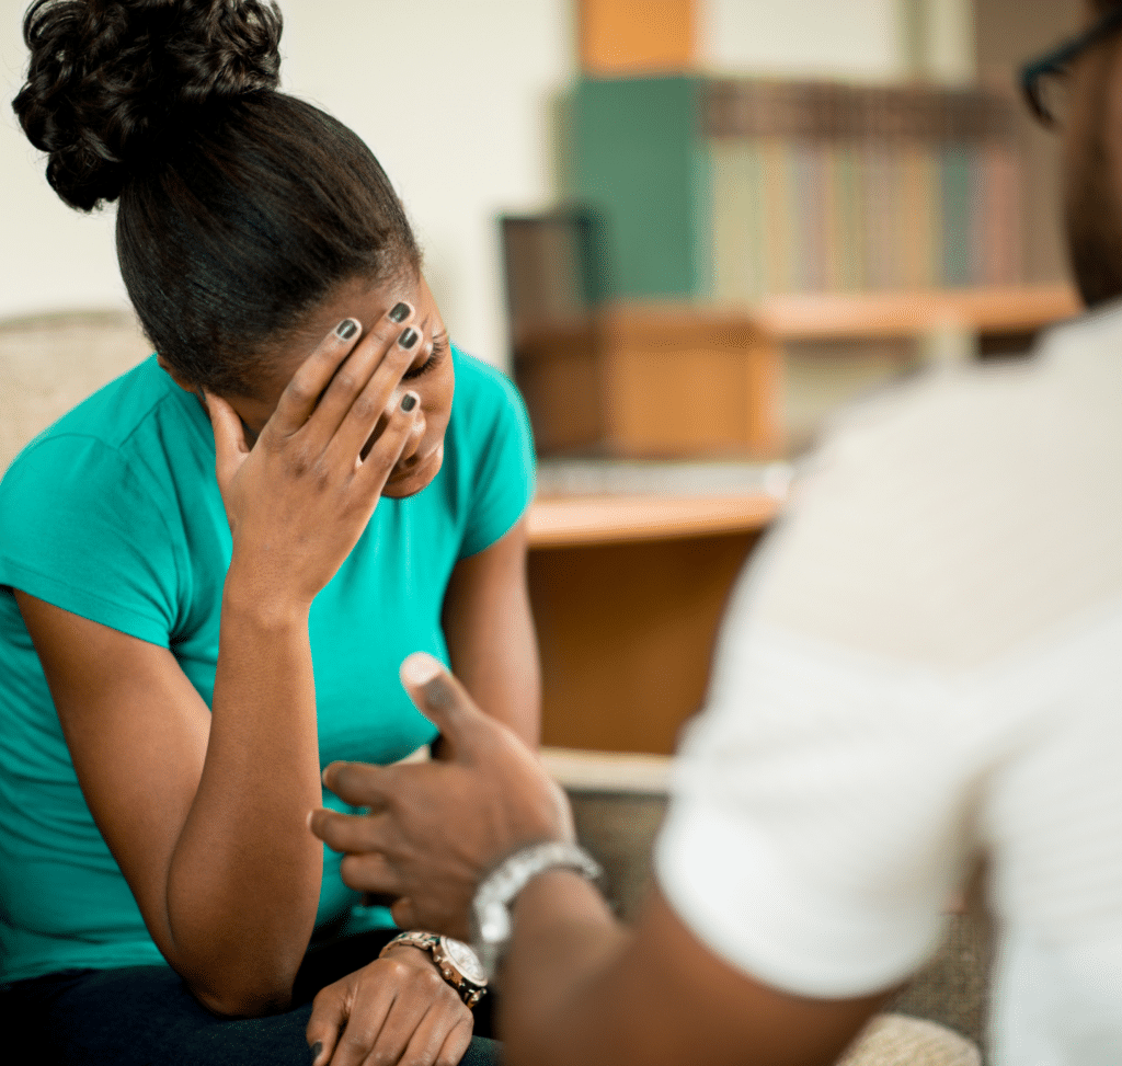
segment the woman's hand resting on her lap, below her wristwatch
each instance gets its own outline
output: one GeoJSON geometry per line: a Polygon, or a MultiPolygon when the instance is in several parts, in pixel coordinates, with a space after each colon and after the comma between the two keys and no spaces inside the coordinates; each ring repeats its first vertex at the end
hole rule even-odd
{"type": "Polygon", "coordinates": [[[307,1042],[313,1066],[456,1066],[471,1028],[471,1011],[427,953],[402,945],[320,991],[307,1042]]]}

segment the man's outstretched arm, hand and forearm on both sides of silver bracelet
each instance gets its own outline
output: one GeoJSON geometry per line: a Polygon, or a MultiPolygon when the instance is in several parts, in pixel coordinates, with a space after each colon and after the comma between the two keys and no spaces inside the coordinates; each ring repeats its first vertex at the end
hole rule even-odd
{"type": "MultiPolygon", "coordinates": [[[[402,674],[449,742],[442,761],[334,764],[329,788],[371,814],[321,810],[311,824],[348,853],[348,883],[398,897],[399,923],[466,938],[487,870],[531,843],[571,839],[571,821],[541,764],[434,660],[411,656],[402,674]]],[[[699,943],[660,894],[629,932],[591,885],[562,871],[519,894],[499,980],[514,1066],[826,1064],[888,994],[825,1001],[780,992],[699,943]]]]}

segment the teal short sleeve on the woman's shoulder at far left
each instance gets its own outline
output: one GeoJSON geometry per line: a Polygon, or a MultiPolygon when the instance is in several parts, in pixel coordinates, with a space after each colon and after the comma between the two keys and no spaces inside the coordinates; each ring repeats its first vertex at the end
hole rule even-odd
{"type": "Polygon", "coordinates": [[[40,439],[0,484],[0,585],[167,647],[181,568],[163,495],[100,440],[40,439]]]}

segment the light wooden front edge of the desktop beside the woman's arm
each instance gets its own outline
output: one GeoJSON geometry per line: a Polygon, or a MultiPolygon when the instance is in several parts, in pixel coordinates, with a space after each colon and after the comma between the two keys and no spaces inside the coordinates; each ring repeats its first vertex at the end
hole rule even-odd
{"type": "Polygon", "coordinates": [[[775,516],[779,500],[745,496],[554,496],[530,508],[530,546],[619,544],[749,533],[775,516]]]}

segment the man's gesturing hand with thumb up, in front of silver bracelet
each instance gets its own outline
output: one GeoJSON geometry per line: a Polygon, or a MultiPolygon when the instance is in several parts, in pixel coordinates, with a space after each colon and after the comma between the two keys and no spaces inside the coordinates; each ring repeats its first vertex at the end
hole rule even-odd
{"type": "Polygon", "coordinates": [[[332,763],[323,782],[368,815],[315,810],[309,825],[346,853],[353,889],[396,898],[394,920],[469,939],[481,877],[504,856],[541,840],[571,840],[564,793],[506,726],[484,715],[431,655],[402,663],[402,683],[440,729],[430,763],[332,763]]]}

